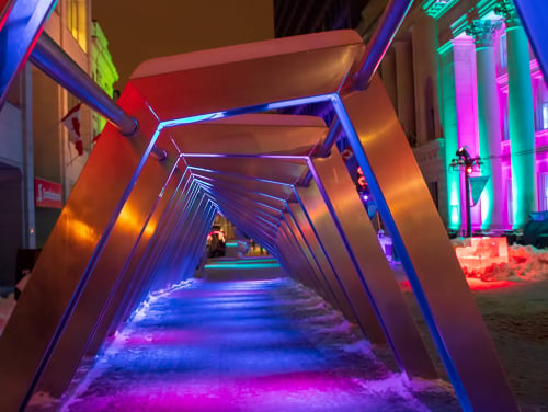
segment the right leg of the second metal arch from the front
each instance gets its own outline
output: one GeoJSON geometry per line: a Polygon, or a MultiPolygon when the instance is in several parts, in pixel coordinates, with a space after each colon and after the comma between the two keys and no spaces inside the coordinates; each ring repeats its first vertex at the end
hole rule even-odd
{"type": "Polygon", "coordinates": [[[355,287],[365,288],[400,369],[409,378],[437,378],[419,329],[339,151],[334,150],[329,158],[312,159],[311,163],[321,196],[363,281],[355,287]]]}

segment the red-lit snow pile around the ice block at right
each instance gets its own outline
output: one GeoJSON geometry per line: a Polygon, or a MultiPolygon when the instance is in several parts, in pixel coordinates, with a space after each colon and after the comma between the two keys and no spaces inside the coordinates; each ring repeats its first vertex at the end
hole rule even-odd
{"type": "Polygon", "coordinates": [[[461,250],[468,249],[461,239],[453,242],[466,277],[483,282],[492,281],[545,281],[548,279],[548,251],[532,245],[509,247],[509,262],[491,263],[473,267],[464,263],[461,250]]]}

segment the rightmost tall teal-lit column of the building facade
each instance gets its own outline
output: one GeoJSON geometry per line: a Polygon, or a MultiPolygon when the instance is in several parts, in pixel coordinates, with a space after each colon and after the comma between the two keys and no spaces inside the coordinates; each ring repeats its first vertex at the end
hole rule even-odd
{"type": "Polygon", "coordinates": [[[512,164],[514,229],[523,228],[536,209],[535,125],[527,36],[510,0],[499,0],[495,12],[506,21],[509,128],[512,164]]]}

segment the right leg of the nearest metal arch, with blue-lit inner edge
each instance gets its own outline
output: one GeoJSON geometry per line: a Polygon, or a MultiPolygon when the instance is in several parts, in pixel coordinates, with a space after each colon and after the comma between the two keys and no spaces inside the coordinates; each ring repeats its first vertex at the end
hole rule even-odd
{"type": "Polygon", "coordinates": [[[481,313],[380,79],[375,78],[364,92],[343,94],[335,110],[463,409],[517,411],[481,313]]]}

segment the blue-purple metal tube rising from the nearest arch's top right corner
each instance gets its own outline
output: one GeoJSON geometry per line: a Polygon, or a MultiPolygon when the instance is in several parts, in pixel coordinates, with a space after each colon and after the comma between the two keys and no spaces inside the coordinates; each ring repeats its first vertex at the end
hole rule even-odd
{"type": "Polygon", "coordinates": [[[365,90],[377,71],[386,50],[408,14],[413,0],[390,0],[380,16],[375,33],[367,44],[359,71],[354,77],[354,89],[365,90]]]}

